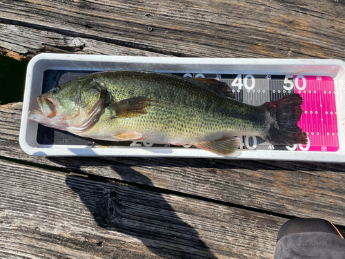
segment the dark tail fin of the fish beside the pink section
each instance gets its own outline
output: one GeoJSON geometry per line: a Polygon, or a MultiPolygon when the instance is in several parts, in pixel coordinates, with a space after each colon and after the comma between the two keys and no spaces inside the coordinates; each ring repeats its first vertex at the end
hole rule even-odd
{"type": "Polygon", "coordinates": [[[306,133],[297,126],[303,113],[302,103],[302,96],[294,93],[263,104],[269,125],[264,139],[276,145],[307,144],[306,133]]]}

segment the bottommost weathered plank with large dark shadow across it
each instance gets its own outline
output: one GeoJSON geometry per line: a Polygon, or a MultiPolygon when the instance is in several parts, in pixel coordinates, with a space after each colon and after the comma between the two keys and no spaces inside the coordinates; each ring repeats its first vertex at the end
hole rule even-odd
{"type": "Polygon", "coordinates": [[[272,258],[286,221],[0,160],[0,256],[272,258]]]}

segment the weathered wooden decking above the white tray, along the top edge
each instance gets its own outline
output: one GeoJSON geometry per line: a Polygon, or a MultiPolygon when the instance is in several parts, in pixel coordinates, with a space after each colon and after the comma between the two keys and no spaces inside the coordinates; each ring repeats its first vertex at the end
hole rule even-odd
{"type": "Polygon", "coordinates": [[[344,12],[344,1],[328,0],[1,0],[0,48],[17,58],[124,46],[130,55],[344,59],[344,12]]]}

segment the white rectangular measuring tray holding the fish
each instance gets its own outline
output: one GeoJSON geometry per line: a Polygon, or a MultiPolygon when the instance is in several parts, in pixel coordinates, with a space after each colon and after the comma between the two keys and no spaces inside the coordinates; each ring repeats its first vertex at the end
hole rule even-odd
{"type": "Polygon", "coordinates": [[[208,157],[254,160],[345,162],[345,63],[333,59],[208,59],[41,54],[26,75],[19,142],[23,151],[41,156],[208,157]],[[260,105],[284,95],[304,98],[299,126],[308,144],[276,146],[255,136],[237,136],[242,143],[231,156],[195,146],[114,142],[94,147],[93,140],[28,121],[39,108],[37,97],[57,84],[101,70],[148,70],[185,77],[226,81],[235,99],[260,105]]]}

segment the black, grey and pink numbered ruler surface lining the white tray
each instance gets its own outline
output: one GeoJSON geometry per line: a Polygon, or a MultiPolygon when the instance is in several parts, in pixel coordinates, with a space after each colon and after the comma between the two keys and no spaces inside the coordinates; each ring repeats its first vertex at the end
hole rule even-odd
{"type": "MultiPolygon", "coordinates": [[[[43,77],[42,93],[46,93],[57,84],[86,75],[91,71],[46,70],[43,77]]],[[[96,71],[92,71],[96,72],[96,71]]],[[[181,77],[206,77],[225,81],[235,95],[235,99],[251,105],[261,105],[273,102],[286,95],[299,93],[304,104],[302,117],[298,125],[308,135],[308,144],[291,146],[273,145],[257,136],[237,136],[241,140],[239,149],[248,151],[322,151],[334,152],[339,149],[337,114],[335,109],[335,87],[332,77],[302,76],[302,75],[237,75],[237,74],[202,74],[173,73],[181,77]]],[[[39,144],[75,144],[90,145],[94,142],[39,125],[37,132],[39,144]]],[[[118,147],[152,147],[152,148],[196,148],[191,145],[172,146],[169,144],[152,144],[145,142],[112,142],[118,147]]]]}

